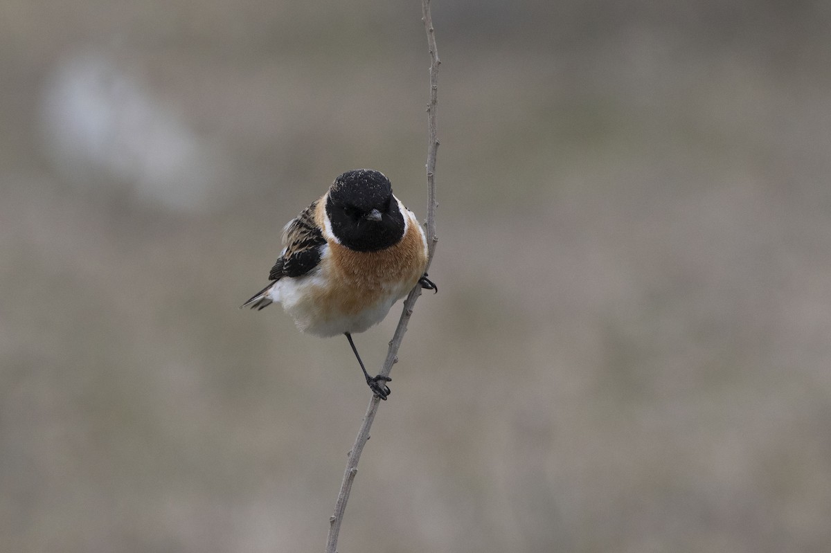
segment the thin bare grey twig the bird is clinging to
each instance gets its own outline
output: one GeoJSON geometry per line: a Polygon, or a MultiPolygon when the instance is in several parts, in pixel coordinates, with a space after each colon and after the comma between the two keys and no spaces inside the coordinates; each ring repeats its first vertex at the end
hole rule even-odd
{"type": "MultiPolygon", "coordinates": [[[[437,107],[437,92],[439,79],[439,52],[435,47],[435,31],[433,30],[433,19],[430,16],[430,0],[421,0],[421,21],[424,22],[425,32],[427,33],[427,46],[430,51],[430,103],[427,105],[427,267],[430,267],[430,262],[433,261],[435,254],[435,244],[439,239],[435,236],[435,208],[438,203],[435,201],[435,156],[439,149],[439,140],[437,138],[437,127],[435,122],[435,112],[437,107]]],[[[388,376],[392,370],[392,365],[398,362],[398,349],[401,347],[401,340],[404,340],[404,334],[407,331],[407,324],[410,322],[410,317],[413,314],[413,306],[416,305],[421,295],[421,286],[416,284],[410,294],[407,295],[404,301],[404,309],[401,311],[401,318],[398,320],[396,332],[392,335],[390,340],[390,348],[386,352],[386,360],[381,367],[381,375],[388,376]]],[[[347,509],[347,501],[349,499],[349,492],[352,491],[352,482],[355,481],[355,475],[358,472],[358,461],[361,459],[361,452],[366,445],[366,440],[369,439],[369,429],[372,426],[372,421],[375,420],[375,415],[378,411],[378,405],[381,404],[381,399],[375,394],[372,395],[369,405],[366,408],[361,428],[358,430],[358,435],[355,438],[355,444],[349,452],[349,460],[347,461],[347,470],[343,473],[343,482],[341,482],[341,491],[337,494],[337,502],[335,502],[335,512],[329,517],[329,536],[326,543],[326,553],[337,553],[337,536],[341,531],[341,523],[343,521],[343,513],[347,509]]]]}

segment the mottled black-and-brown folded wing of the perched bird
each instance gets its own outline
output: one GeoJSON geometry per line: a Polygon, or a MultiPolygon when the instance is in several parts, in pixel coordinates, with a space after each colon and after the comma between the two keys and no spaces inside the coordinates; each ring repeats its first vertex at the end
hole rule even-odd
{"type": "Polygon", "coordinates": [[[311,272],[320,262],[321,247],[326,245],[326,238],[314,221],[317,202],[312,203],[297,215],[283,232],[283,244],[286,249],[274,263],[268,278],[278,281],[283,276],[303,276],[311,272]]]}

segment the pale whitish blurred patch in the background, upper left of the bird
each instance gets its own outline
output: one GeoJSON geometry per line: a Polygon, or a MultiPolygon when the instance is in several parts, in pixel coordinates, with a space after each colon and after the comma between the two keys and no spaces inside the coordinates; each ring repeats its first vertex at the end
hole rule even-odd
{"type": "Polygon", "coordinates": [[[223,153],[105,54],[61,59],[40,109],[44,153],[67,183],[121,185],[177,211],[216,208],[223,153]]]}

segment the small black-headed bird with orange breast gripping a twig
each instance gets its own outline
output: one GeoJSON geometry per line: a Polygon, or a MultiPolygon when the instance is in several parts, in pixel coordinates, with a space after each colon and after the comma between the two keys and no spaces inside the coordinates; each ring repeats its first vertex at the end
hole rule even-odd
{"type": "Polygon", "coordinates": [[[301,332],[346,335],[366,384],[386,400],[391,378],[366,372],[352,334],[383,321],[416,285],[438,291],[425,272],[427,240],[416,215],[385,174],[354,169],[288,222],[282,246],[268,286],[240,309],[279,302],[301,332]]]}

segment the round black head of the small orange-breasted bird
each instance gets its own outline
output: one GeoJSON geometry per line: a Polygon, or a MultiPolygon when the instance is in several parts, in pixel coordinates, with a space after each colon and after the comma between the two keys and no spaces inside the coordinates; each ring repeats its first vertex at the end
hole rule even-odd
{"type": "Polygon", "coordinates": [[[404,236],[404,216],[392,196],[392,185],[372,169],[347,171],[335,179],[326,213],[332,233],[357,252],[382,250],[404,236]]]}

